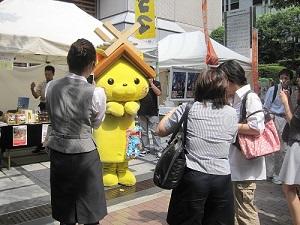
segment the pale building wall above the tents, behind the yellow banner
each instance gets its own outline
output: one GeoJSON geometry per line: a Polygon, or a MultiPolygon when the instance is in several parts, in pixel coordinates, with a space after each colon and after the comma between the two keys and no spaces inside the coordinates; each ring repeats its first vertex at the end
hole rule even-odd
{"type": "MultiPolygon", "coordinates": [[[[78,7],[101,21],[111,21],[119,30],[135,22],[135,0],[61,0],[78,7]]],[[[222,0],[208,2],[208,29],[222,25],[222,0]]],[[[202,30],[201,1],[155,0],[157,39],[171,33],[202,30]]]]}

